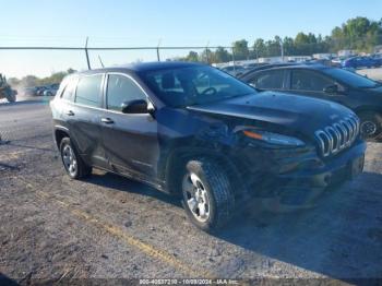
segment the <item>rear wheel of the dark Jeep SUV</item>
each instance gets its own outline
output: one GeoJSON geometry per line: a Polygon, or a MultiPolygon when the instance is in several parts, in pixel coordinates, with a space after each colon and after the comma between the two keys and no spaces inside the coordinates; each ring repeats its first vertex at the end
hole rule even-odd
{"type": "Polygon", "coordinates": [[[92,167],[85,165],[77,151],[70,141],[70,138],[63,138],[60,142],[60,155],[63,167],[69,177],[81,179],[92,174],[92,167]]]}

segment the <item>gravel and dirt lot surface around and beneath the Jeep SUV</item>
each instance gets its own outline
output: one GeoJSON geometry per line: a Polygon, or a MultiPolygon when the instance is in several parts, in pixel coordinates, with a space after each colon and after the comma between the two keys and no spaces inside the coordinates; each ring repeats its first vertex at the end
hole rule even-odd
{"type": "Polygon", "coordinates": [[[72,278],[382,278],[382,144],[366,169],[317,207],[259,205],[214,236],[144,184],[63,172],[46,103],[0,104],[0,276],[72,278]]]}

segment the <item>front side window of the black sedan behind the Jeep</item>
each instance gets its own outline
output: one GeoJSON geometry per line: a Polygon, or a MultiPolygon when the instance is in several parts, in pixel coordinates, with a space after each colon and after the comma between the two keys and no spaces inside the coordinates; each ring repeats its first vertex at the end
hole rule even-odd
{"type": "Polygon", "coordinates": [[[291,73],[291,90],[322,92],[324,87],[334,85],[335,82],[307,70],[295,70],[291,73]]]}

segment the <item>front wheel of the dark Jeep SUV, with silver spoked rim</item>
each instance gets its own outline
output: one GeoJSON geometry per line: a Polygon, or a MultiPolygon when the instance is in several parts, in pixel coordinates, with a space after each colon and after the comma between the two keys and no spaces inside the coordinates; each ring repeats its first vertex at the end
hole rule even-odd
{"type": "Polygon", "coordinates": [[[206,158],[188,162],[181,189],[190,221],[208,233],[226,225],[235,208],[231,186],[227,172],[216,162],[206,158]]]}

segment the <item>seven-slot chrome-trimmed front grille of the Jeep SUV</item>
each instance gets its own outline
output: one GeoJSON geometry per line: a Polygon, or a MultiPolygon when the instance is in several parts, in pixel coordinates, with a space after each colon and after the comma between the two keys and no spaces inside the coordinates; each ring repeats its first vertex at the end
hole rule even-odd
{"type": "Polygon", "coordinates": [[[321,155],[327,157],[335,155],[350,146],[359,133],[359,119],[348,116],[332,126],[314,132],[321,155]]]}

